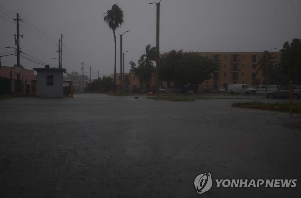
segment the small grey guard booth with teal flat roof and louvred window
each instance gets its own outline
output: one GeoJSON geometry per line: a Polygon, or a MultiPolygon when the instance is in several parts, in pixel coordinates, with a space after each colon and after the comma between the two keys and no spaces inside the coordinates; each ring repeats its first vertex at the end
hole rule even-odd
{"type": "Polygon", "coordinates": [[[63,97],[63,68],[33,68],[37,72],[37,96],[63,97]]]}

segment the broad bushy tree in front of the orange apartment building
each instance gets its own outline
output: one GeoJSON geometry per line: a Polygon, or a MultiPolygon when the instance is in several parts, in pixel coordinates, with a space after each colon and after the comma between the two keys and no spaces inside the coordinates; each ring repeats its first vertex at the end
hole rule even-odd
{"type": "Polygon", "coordinates": [[[203,81],[210,79],[211,73],[219,68],[220,66],[212,59],[200,56],[198,53],[171,50],[162,61],[160,79],[180,85],[182,93],[184,93],[184,85],[198,86],[203,81]]]}

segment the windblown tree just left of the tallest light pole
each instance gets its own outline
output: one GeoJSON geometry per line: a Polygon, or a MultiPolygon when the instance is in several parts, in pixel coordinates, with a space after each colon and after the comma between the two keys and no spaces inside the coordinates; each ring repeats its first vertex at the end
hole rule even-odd
{"type": "Polygon", "coordinates": [[[138,59],[138,66],[136,63],[130,61],[131,69],[130,73],[135,74],[140,83],[145,82],[145,90],[148,91],[148,82],[151,80],[153,73],[155,72],[155,67],[153,61],[156,60],[156,47],[151,47],[148,44],[145,47],[145,53],[138,59]]]}

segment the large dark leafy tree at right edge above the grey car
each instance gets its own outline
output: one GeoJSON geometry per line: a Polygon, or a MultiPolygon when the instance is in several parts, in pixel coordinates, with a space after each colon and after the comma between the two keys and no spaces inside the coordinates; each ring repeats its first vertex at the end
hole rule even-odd
{"type": "Polygon", "coordinates": [[[294,38],[291,43],[283,44],[279,72],[282,76],[281,84],[301,84],[301,39],[294,38]]]}

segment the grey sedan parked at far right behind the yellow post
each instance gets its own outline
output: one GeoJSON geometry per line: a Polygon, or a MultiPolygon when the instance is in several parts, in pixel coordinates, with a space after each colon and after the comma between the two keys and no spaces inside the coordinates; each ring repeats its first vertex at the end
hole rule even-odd
{"type": "MultiPolygon", "coordinates": [[[[289,98],[290,97],[290,86],[285,85],[275,91],[269,91],[265,94],[269,99],[273,98],[289,98]]],[[[301,96],[301,86],[293,85],[293,99],[298,99],[301,96]]]]}

